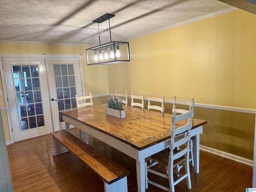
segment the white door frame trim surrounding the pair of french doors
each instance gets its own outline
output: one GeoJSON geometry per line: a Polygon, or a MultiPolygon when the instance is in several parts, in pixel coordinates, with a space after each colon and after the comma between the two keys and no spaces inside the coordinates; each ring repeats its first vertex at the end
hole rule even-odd
{"type": "MultiPolygon", "coordinates": [[[[6,108],[6,114],[7,114],[7,121],[8,121],[8,127],[9,127],[9,134],[10,134],[10,140],[11,143],[14,143],[14,136],[12,132],[12,122],[11,122],[11,117],[10,117],[10,108],[8,104],[8,97],[7,97],[7,88],[6,88],[6,82],[4,78],[4,70],[3,70],[3,63],[2,63],[2,58],[3,57],[8,57],[8,58],[79,58],[79,63],[80,63],[80,76],[82,80],[82,88],[84,88],[84,79],[82,75],[82,63],[81,63],[81,56],[80,55],[0,55],[0,74],[1,74],[1,79],[2,79],[2,86],[3,86],[3,95],[4,95],[4,103],[5,103],[5,108],[6,108]]],[[[46,71],[47,73],[47,71],[46,71]]],[[[82,92],[84,95],[84,91],[82,92]]],[[[49,96],[50,98],[50,96],[49,96]]]]}

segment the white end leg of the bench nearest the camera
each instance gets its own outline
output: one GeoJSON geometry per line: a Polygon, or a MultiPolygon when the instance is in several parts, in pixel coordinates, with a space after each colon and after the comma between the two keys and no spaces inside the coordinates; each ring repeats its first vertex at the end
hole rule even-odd
{"type": "Polygon", "coordinates": [[[127,177],[124,177],[112,184],[104,182],[105,192],[128,192],[127,177]]]}

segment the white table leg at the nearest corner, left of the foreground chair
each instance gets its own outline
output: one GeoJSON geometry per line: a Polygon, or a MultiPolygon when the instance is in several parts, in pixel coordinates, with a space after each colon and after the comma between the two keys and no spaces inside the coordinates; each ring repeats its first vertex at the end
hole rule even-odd
{"type": "Polygon", "coordinates": [[[138,192],[145,192],[145,159],[136,160],[138,192]]]}

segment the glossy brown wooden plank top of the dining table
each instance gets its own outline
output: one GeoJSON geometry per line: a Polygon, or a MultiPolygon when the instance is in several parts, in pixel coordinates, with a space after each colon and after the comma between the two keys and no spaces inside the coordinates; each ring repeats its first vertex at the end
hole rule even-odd
{"type": "MultiPolygon", "coordinates": [[[[86,126],[104,132],[137,150],[143,150],[170,138],[172,114],[154,110],[124,106],[126,118],[107,115],[106,104],[62,112],[63,116],[72,118],[86,126]]],[[[188,121],[176,123],[182,126],[188,121]]],[[[206,124],[205,120],[192,120],[192,129],[206,124]]]]}

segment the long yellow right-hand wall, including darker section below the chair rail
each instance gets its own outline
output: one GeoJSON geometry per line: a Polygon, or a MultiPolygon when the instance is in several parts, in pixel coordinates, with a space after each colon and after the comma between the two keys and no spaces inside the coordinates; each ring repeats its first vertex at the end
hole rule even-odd
{"type": "MultiPolygon", "coordinates": [[[[255,31],[256,15],[237,10],[130,40],[131,61],[108,65],[110,92],[255,109],[255,31]]],[[[208,121],[200,144],[253,159],[255,114],[195,108],[194,117],[208,121]]]]}

